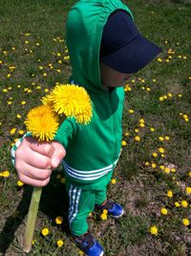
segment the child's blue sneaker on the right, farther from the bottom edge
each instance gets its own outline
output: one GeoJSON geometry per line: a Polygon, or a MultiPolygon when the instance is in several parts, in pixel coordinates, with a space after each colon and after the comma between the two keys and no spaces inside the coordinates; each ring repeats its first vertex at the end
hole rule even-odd
{"type": "Polygon", "coordinates": [[[123,215],[124,211],[122,206],[110,199],[106,199],[100,206],[96,205],[99,210],[107,210],[108,214],[114,218],[119,218],[123,215]]]}

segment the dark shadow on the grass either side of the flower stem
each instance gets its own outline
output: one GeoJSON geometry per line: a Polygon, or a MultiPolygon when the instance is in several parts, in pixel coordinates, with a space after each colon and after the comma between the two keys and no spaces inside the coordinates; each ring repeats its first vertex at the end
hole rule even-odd
{"type": "MultiPolygon", "coordinates": [[[[70,233],[68,225],[68,196],[65,191],[65,185],[61,182],[59,184],[55,179],[53,177],[50,184],[43,188],[39,212],[46,215],[53,223],[52,225],[56,225],[54,221],[56,216],[62,216],[64,221],[61,228],[63,232],[70,233]]],[[[6,255],[7,250],[15,238],[14,233],[28,214],[32,197],[32,187],[25,185],[20,189],[23,190],[23,197],[15,210],[16,214],[11,215],[7,219],[0,233],[0,255],[6,255]]],[[[19,246],[22,246],[22,244],[19,244],[19,246]]]]}

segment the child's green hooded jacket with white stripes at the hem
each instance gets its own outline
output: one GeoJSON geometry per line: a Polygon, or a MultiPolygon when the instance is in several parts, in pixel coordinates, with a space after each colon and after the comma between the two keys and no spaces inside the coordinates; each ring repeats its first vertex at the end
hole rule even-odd
{"type": "MultiPolygon", "coordinates": [[[[121,148],[123,87],[105,91],[99,72],[102,31],[112,12],[132,12],[119,0],[81,0],[68,14],[67,47],[73,68],[72,81],[83,86],[93,103],[89,125],[68,118],[54,139],[66,149],[65,173],[77,186],[89,189],[107,185],[121,148]]],[[[115,35],[114,35],[115,36],[115,35]]]]}

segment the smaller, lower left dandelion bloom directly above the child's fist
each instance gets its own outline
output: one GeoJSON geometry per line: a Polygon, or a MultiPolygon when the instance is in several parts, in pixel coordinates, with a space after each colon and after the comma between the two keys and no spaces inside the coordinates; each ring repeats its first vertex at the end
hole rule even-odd
{"type": "Polygon", "coordinates": [[[33,107],[25,121],[28,131],[39,141],[51,141],[59,126],[58,116],[49,105],[33,107]]]}

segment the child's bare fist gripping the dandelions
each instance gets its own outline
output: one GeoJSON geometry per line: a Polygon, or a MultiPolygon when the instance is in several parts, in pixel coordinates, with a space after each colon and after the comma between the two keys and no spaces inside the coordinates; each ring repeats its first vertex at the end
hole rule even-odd
{"type": "Polygon", "coordinates": [[[39,143],[32,137],[26,137],[15,152],[15,169],[19,179],[34,187],[46,186],[52,170],[65,156],[64,147],[53,141],[39,143]]]}

